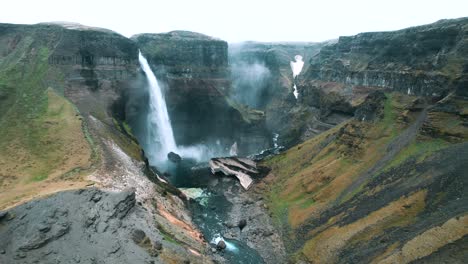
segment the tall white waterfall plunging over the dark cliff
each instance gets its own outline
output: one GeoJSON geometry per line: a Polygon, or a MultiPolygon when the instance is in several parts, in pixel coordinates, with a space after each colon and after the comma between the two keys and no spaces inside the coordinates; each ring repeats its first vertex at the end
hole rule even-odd
{"type": "Polygon", "coordinates": [[[156,76],[141,52],[138,54],[140,66],[146,74],[149,89],[148,133],[146,138],[147,155],[150,163],[158,164],[167,159],[167,153],[177,151],[171,120],[167,113],[166,100],[156,76]]]}

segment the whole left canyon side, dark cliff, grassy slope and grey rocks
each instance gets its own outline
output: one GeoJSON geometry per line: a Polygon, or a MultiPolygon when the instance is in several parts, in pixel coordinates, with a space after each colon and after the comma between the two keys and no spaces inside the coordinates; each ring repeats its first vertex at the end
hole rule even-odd
{"type": "MultiPolygon", "coordinates": [[[[125,122],[132,110],[127,97],[138,90],[138,77],[137,45],[115,32],[77,24],[0,24],[0,208],[38,199],[0,213],[2,238],[7,237],[0,262],[52,262],[54,254],[41,252],[60,254],[64,241],[80,241],[83,233],[108,240],[115,228],[121,233],[107,248],[112,260],[102,252],[83,260],[126,263],[119,252],[137,246],[132,258],[139,260],[159,261],[159,255],[163,261],[209,262],[198,253],[205,244],[184,198],[148,170],[125,122]],[[102,191],[53,194],[90,185],[102,191]],[[117,195],[124,199],[102,198],[107,202],[94,209],[73,202],[99,204],[107,190],[125,190],[117,195]],[[40,199],[44,195],[50,198],[40,199]],[[76,212],[61,210],[57,197],[70,195],[76,212]],[[27,214],[24,208],[48,208],[51,214],[20,218],[27,214]],[[74,225],[75,213],[89,219],[74,225]],[[146,235],[137,230],[141,239],[128,244],[134,224],[146,235]],[[21,238],[8,231],[18,225],[26,226],[21,238]]],[[[64,252],[61,258],[74,262],[76,256],[64,252]]]]}

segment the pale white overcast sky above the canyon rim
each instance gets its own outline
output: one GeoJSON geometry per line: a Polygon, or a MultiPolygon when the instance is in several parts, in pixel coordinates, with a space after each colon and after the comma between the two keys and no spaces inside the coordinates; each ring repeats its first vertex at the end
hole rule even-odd
{"type": "Polygon", "coordinates": [[[468,16],[468,0],[5,0],[0,22],[71,21],[125,36],[190,30],[230,42],[323,41],[468,16]]]}

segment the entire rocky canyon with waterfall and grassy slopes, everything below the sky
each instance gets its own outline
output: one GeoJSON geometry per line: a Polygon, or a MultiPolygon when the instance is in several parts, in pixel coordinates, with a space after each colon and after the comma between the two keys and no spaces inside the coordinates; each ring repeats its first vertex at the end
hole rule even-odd
{"type": "Polygon", "coordinates": [[[0,24],[0,263],[465,263],[467,33],[0,24]]]}

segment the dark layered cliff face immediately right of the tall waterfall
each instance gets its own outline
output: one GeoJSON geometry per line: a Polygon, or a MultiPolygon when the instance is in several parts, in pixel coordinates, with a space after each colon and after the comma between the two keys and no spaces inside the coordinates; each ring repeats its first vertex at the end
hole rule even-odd
{"type": "Polygon", "coordinates": [[[237,141],[243,153],[268,146],[262,117],[227,98],[225,41],[186,31],[132,38],[166,89],[177,144],[220,140],[226,147],[237,141]]]}

